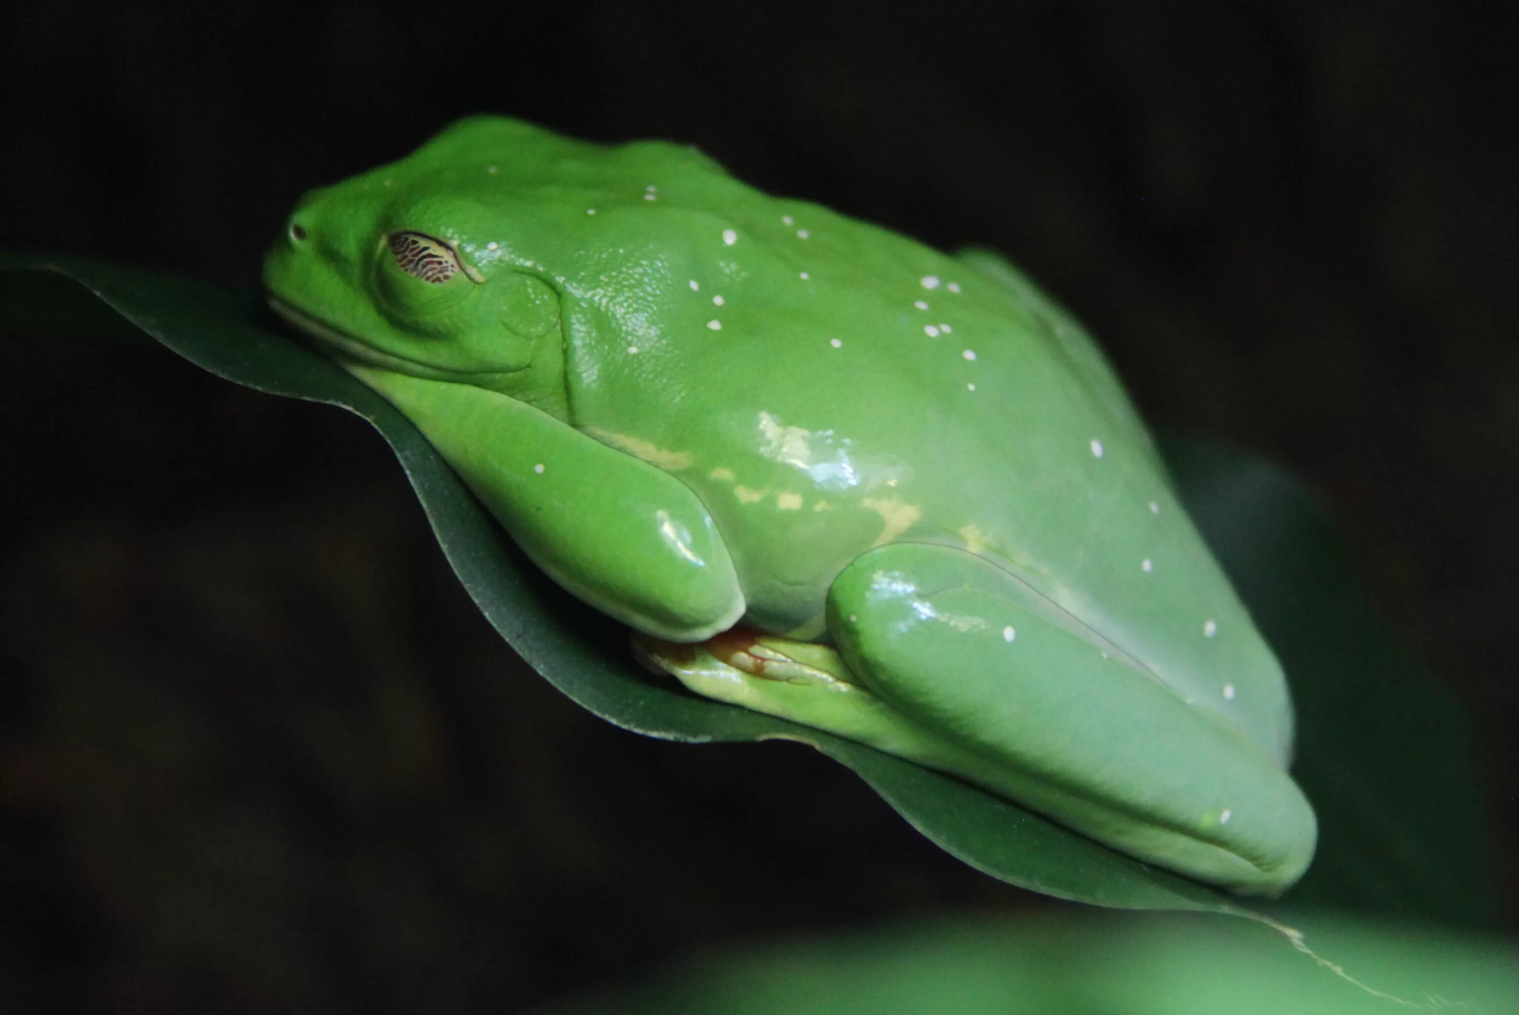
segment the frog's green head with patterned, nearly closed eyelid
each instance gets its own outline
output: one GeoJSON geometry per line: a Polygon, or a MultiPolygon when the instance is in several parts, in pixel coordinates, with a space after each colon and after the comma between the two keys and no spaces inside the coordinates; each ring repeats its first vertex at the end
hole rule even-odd
{"type": "Polygon", "coordinates": [[[264,258],[270,305],[339,362],[562,412],[553,280],[482,237],[498,208],[407,163],[305,194],[264,258]]]}

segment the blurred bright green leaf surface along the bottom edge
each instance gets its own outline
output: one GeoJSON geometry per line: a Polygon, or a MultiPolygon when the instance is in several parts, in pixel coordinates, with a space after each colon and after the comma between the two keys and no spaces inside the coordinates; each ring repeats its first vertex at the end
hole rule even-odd
{"type": "Polygon", "coordinates": [[[697,956],[536,1015],[1519,1012],[1513,942],[1326,915],[1294,925],[1323,963],[1261,924],[1198,913],[924,921],[697,956]]]}

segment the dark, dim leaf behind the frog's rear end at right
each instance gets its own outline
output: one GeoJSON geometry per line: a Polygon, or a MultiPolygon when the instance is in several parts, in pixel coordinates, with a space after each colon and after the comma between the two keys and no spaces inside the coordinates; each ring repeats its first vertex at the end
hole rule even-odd
{"type": "Polygon", "coordinates": [[[1318,813],[1293,904],[1498,927],[1476,731],[1460,702],[1378,618],[1328,514],[1290,476],[1211,442],[1164,447],[1291,684],[1293,776],[1318,813]]]}

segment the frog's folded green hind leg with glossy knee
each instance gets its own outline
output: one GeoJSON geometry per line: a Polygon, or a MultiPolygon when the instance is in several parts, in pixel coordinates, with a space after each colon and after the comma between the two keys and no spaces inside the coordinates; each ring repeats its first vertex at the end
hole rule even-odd
{"type": "Polygon", "coordinates": [[[1236,892],[1308,866],[1312,810],[1270,755],[990,561],[872,550],[835,579],[828,626],[854,679],[981,758],[958,775],[1236,892]]]}

